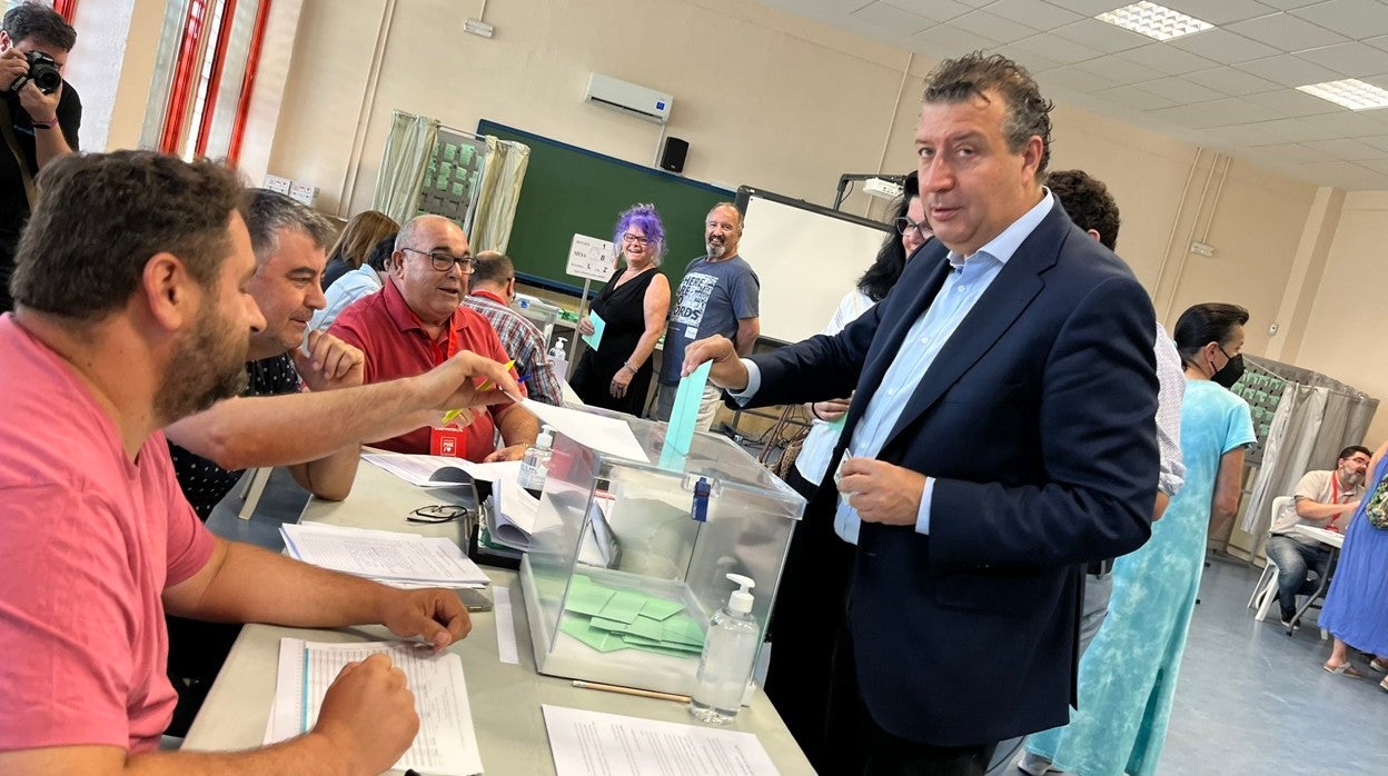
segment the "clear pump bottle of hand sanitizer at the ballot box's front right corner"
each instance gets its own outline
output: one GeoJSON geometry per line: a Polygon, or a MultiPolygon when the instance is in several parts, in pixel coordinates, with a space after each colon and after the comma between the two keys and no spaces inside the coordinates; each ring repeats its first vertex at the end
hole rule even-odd
{"type": "Polygon", "coordinates": [[[750,590],[756,583],[740,573],[730,573],[727,579],[740,587],[727,597],[727,607],[716,611],[708,623],[690,701],[690,714],[709,725],[726,725],[743,708],[762,632],[752,616],[750,590]]]}

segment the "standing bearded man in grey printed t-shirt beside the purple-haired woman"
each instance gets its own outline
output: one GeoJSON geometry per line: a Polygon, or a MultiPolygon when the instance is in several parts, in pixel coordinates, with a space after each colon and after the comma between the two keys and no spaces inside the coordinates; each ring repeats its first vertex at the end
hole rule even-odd
{"type": "MultiPolygon", "coordinates": [[[[737,346],[738,355],[747,355],[762,332],[758,317],[762,283],[752,265],[737,255],[737,242],[743,237],[743,214],[733,203],[719,203],[708,212],[704,228],[708,254],[690,262],[670,304],[670,322],[665,329],[661,355],[661,387],[655,396],[657,421],[669,421],[675,410],[684,346],[723,335],[737,346]]],[[[704,389],[695,422],[698,430],[712,428],[720,398],[722,391],[716,387],[704,389]]]]}

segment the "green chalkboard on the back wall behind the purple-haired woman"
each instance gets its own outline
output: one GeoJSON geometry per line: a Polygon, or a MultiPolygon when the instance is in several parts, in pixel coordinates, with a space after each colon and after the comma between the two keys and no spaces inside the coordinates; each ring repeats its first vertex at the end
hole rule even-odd
{"type": "MultiPolygon", "coordinates": [[[[583,279],[565,273],[575,233],[612,239],[616,218],[636,203],[652,203],[665,223],[661,271],[677,287],[690,260],[704,254],[704,219],[716,203],[736,194],[663,169],[641,167],[491,121],[477,135],[530,147],[530,165],[507,254],[522,280],[577,296],[583,279]]],[[[602,283],[594,283],[594,289],[602,283]]]]}

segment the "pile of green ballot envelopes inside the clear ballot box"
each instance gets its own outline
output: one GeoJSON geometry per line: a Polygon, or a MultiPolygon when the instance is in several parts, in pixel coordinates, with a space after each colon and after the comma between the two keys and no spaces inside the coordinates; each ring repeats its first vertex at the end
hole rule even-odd
{"type": "Polygon", "coordinates": [[[573,575],[559,630],[600,652],[645,650],[676,658],[704,651],[698,621],[684,604],[637,590],[616,590],[573,575]]]}

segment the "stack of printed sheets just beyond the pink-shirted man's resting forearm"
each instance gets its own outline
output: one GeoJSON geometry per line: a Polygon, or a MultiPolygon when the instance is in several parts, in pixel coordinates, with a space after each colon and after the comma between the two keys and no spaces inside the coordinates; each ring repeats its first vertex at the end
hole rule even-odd
{"type": "Polygon", "coordinates": [[[480,587],[486,573],[441,537],[322,523],[283,525],[289,554],[305,564],[394,587],[480,587]]]}

